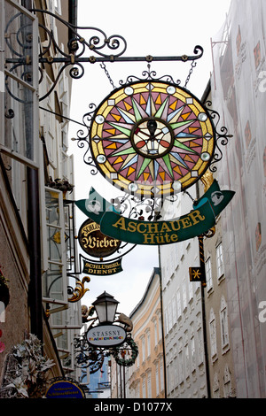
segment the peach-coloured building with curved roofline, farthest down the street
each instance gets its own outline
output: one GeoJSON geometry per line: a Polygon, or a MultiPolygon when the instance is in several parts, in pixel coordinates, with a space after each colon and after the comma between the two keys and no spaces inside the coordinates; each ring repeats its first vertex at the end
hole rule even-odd
{"type": "Polygon", "coordinates": [[[131,398],[164,398],[159,268],[153,269],[145,295],[131,312],[130,319],[138,357],[134,366],[126,369],[128,395],[131,398]]]}

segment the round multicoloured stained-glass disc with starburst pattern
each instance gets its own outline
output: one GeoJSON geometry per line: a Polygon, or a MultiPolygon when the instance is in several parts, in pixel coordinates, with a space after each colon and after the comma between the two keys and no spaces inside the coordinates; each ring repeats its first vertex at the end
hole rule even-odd
{"type": "Polygon", "coordinates": [[[215,133],[206,109],[187,90],[139,81],[116,89],[99,105],[90,148],[113,185],[162,196],[200,179],[213,158],[215,133]]]}

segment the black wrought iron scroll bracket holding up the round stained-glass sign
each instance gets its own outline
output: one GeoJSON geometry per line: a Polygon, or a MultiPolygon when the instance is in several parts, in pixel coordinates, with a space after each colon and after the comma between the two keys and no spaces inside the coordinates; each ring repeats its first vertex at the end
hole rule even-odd
{"type": "MultiPolygon", "coordinates": [[[[194,62],[196,59],[199,59],[203,55],[203,48],[200,45],[195,46],[193,53],[194,55],[180,55],[180,56],[169,56],[169,57],[153,57],[152,55],[147,55],[145,57],[126,57],[124,56],[125,51],[127,50],[127,42],[121,35],[111,35],[107,36],[106,33],[97,28],[97,27],[79,27],[74,26],[68,23],[66,20],[61,19],[56,14],[45,11],[42,9],[30,9],[29,12],[33,12],[36,15],[40,16],[51,16],[53,19],[57,19],[58,22],[63,24],[65,27],[68,28],[68,31],[71,33],[71,38],[67,43],[68,52],[62,50],[59,47],[59,44],[56,42],[54,37],[53,31],[50,30],[48,27],[43,26],[43,24],[39,23],[39,28],[42,30],[46,36],[45,45],[40,44],[40,53],[38,55],[38,63],[39,63],[39,71],[41,73],[41,77],[39,83],[43,81],[43,71],[45,70],[44,65],[53,65],[53,64],[62,64],[59,67],[59,72],[57,74],[56,79],[53,81],[51,89],[44,95],[39,97],[39,101],[42,101],[44,98],[49,96],[52,90],[57,85],[59,81],[59,77],[61,73],[66,69],[67,66],[71,65],[71,69],[69,70],[69,75],[73,79],[82,78],[84,74],[84,63],[94,64],[96,62],[155,62],[155,61],[180,61],[180,62],[187,62],[192,61],[194,62]],[[83,35],[79,32],[89,33],[89,39],[86,40],[83,35]],[[51,56],[51,50],[54,51],[54,56],[51,56]],[[89,55],[89,53],[93,53],[93,55],[89,55]],[[109,52],[112,53],[109,53],[109,52]]],[[[20,19],[21,13],[19,12],[16,16],[12,17],[13,19],[20,19]]],[[[10,22],[8,22],[6,26],[6,39],[9,38],[8,35],[8,27],[10,22]]],[[[27,34],[26,34],[27,35],[27,34]]],[[[21,53],[16,53],[15,58],[6,58],[6,64],[11,65],[9,71],[12,73],[18,65],[23,65],[29,68],[30,72],[30,65],[32,65],[31,58],[28,54],[28,50],[31,47],[32,38],[27,36],[27,39],[24,40],[25,47],[23,48],[23,41],[20,42],[20,46],[22,45],[21,53]]],[[[12,43],[6,42],[7,46],[12,50],[12,43]]],[[[25,73],[25,71],[23,72],[25,73]]],[[[27,72],[28,73],[28,72],[27,72]]]]}

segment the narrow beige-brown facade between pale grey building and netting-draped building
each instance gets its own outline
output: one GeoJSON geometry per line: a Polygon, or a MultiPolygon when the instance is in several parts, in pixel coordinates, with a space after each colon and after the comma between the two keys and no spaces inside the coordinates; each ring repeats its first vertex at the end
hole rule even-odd
{"type": "MultiPolygon", "coordinates": [[[[208,82],[201,102],[206,104],[211,101],[211,86],[208,82]]],[[[198,195],[202,196],[214,180],[215,173],[208,170],[197,185],[198,195]]],[[[215,227],[209,230],[203,239],[206,273],[203,297],[207,338],[207,378],[209,395],[213,398],[236,397],[227,275],[224,267],[223,215],[226,215],[226,211],[216,218],[215,227]]]]}

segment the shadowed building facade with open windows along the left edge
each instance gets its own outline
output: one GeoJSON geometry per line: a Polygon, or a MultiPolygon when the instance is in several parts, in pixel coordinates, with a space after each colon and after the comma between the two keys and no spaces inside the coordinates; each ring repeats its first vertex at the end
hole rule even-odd
{"type": "Polygon", "coordinates": [[[45,11],[74,23],[74,2],[3,0],[0,10],[0,396],[25,397],[34,393],[6,388],[15,346],[41,343],[38,354],[53,361],[48,378],[80,375],[73,339],[82,313],[71,277],[74,164],[65,118],[71,79],[63,74],[55,85],[59,64],[38,68],[40,53],[57,53],[49,33],[61,50],[71,36],[45,11]]]}

